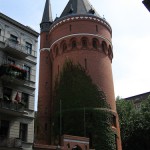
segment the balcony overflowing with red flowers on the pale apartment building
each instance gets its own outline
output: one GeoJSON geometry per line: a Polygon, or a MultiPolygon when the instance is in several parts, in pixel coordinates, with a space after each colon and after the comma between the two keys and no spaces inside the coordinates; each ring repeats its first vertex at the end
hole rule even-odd
{"type": "Polygon", "coordinates": [[[19,68],[16,65],[12,64],[3,64],[0,66],[0,78],[6,79],[7,81],[12,80],[21,80],[25,81],[27,77],[27,71],[19,68]]]}

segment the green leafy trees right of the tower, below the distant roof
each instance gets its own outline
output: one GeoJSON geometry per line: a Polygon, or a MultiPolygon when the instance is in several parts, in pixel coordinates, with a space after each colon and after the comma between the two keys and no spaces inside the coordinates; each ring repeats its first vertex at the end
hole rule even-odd
{"type": "Polygon", "coordinates": [[[136,109],[132,101],[117,100],[123,150],[150,149],[150,98],[136,109]]]}

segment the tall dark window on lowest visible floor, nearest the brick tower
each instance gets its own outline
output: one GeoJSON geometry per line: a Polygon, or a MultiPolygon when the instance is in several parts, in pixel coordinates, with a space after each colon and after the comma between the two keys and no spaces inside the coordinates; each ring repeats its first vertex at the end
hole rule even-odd
{"type": "Polygon", "coordinates": [[[20,123],[19,138],[24,142],[27,141],[27,129],[28,129],[27,124],[20,123]]]}

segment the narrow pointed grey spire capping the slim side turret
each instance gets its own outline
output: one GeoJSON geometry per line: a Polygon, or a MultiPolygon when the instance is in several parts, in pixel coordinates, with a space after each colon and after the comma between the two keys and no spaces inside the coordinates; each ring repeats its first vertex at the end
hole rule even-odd
{"type": "Polygon", "coordinates": [[[45,3],[44,13],[43,13],[43,18],[42,18],[41,23],[44,23],[44,22],[53,22],[51,4],[49,0],[46,0],[46,3],[45,3]]]}

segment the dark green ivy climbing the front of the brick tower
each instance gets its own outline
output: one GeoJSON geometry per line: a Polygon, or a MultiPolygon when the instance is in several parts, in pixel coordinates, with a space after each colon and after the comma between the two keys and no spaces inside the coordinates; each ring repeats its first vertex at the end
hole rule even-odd
{"type": "Polygon", "coordinates": [[[111,129],[111,113],[106,97],[92,83],[81,65],[67,61],[56,80],[54,97],[54,133],[60,129],[60,100],[62,134],[87,136],[96,150],[115,150],[115,134],[111,129]],[[105,108],[105,109],[104,109],[105,108]]]}

